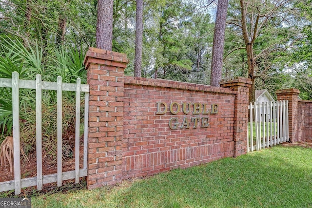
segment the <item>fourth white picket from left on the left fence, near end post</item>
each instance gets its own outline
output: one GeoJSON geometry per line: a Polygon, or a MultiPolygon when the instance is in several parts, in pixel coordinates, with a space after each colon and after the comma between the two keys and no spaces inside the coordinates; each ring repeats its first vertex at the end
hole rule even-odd
{"type": "Polygon", "coordinates": [[[80,134],[80,87],[81,79],[76,84],[76,126],[75,126],[75,183],[79,183],[79,134],[80,134]]]}

